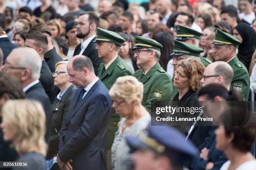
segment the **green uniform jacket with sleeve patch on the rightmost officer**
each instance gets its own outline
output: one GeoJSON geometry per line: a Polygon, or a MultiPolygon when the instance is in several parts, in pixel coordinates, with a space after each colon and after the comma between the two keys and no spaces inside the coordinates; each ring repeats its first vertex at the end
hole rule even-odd
{"type": "Polygon", "coordinates": [[[232,67],[234,72],[234,77],[232,79],[230,90],[236,89],[241,92],[243,100],[248,101],[250,92],[250,77],[246,67],[242,62],[238,60],[238,57],[234,57],[228,62],[232,67]]]}

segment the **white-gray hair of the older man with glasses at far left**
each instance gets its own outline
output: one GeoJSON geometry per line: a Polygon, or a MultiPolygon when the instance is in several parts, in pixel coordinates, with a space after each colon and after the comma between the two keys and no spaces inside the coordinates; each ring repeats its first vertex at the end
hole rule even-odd
{"type": "Polygon", "coordinates": [[[20,47],[13,50],[20,56],[18,66],[25,67],[31,72],[31,79],[37,80],[40,77],[42,61],[40,55],[33,48],[20,47]]]}

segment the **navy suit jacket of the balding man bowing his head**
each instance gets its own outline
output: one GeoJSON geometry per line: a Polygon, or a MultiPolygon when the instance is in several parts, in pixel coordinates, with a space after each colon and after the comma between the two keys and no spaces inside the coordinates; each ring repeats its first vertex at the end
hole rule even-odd
{"type": "Polygon", "coordinates": [[[98,80],[77,105],[81,90],[75,92],[61,127],[59,158],[65,163],[72,159],[73,170],[106,170],[112,99],[98,80]]]}

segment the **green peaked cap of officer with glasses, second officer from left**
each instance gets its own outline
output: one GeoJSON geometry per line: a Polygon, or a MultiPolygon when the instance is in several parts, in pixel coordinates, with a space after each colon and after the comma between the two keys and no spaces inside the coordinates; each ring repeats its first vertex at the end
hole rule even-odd
{"type": "Polygon", "coordinates": [[[132,50],[146,47],[146,48],[152,48],[160,51],[163,48],[163,45],[161,45],[156,40],[152,40],[146,37],[135,36],[134,41],[135,41],[135,47],[133,47],[132,50]]]}

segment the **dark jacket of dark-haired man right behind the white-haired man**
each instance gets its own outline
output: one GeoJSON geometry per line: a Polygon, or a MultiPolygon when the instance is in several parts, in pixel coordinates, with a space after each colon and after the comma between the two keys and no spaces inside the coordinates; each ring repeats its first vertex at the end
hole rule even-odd
{"type": "Polygon", "coordinates": [[[42,67],[40,72],[39,81],[44,86],[44,90],[52,102],[55,97],[54,93],[54,77],[52,76],[51,70],[46,64],[45,60],[42,61],[42,67]]]}

